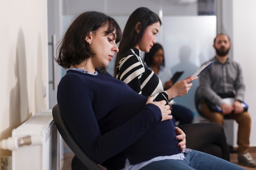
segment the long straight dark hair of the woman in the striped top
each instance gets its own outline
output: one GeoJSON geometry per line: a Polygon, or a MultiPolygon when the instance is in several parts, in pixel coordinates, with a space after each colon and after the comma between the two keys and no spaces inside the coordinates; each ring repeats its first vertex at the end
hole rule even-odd
{"type": "Polygon", "coordinates": [[[162,25],[159,16],[146,7],[140,7],[133,11],[126,22],[122,39],[119,43],[119,53],[117,53],[115,61],[115,76],[117,74],[117,66],[121,60],[122,53],[137,46],[141,41],[145,29],[156,22],[159,22],[160,25],[162,25]],[[139,33],[136,33],[135,26],[138,22],[141,23],[141,28],[139,33]]]}

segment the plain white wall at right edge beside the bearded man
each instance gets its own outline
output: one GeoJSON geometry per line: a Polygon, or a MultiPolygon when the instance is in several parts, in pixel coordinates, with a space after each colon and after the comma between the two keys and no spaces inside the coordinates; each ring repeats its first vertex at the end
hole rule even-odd
{"type": "Polygon", "coordinates": [[[250,146],[256,146],[256,1],[233,1],[233,58],[243,68],[246,85],[245,101],[252,117],[250,146]]]}

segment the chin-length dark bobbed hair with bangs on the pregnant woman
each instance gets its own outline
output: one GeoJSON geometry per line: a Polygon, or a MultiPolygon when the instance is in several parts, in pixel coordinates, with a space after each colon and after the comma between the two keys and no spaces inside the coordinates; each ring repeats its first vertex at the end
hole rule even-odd
{"type": "MultiPolygon", "coordinates": [[[[56,62],[64,67],[80,64],[84,60],[93,57],[94,53],[90,44],[85,41],[85,37],[91,31],[97,31],[102,26],[108,24],[105,35],[116,30],[116,43],[120,41],[122,32],[115,19],[98,11],[86,11],[81,13],[67,29],[64,37],[58,44],[58,57],[56,62]]],[[[97,68],[98,72],[106,71],[106,67],[97,68]]]]}

